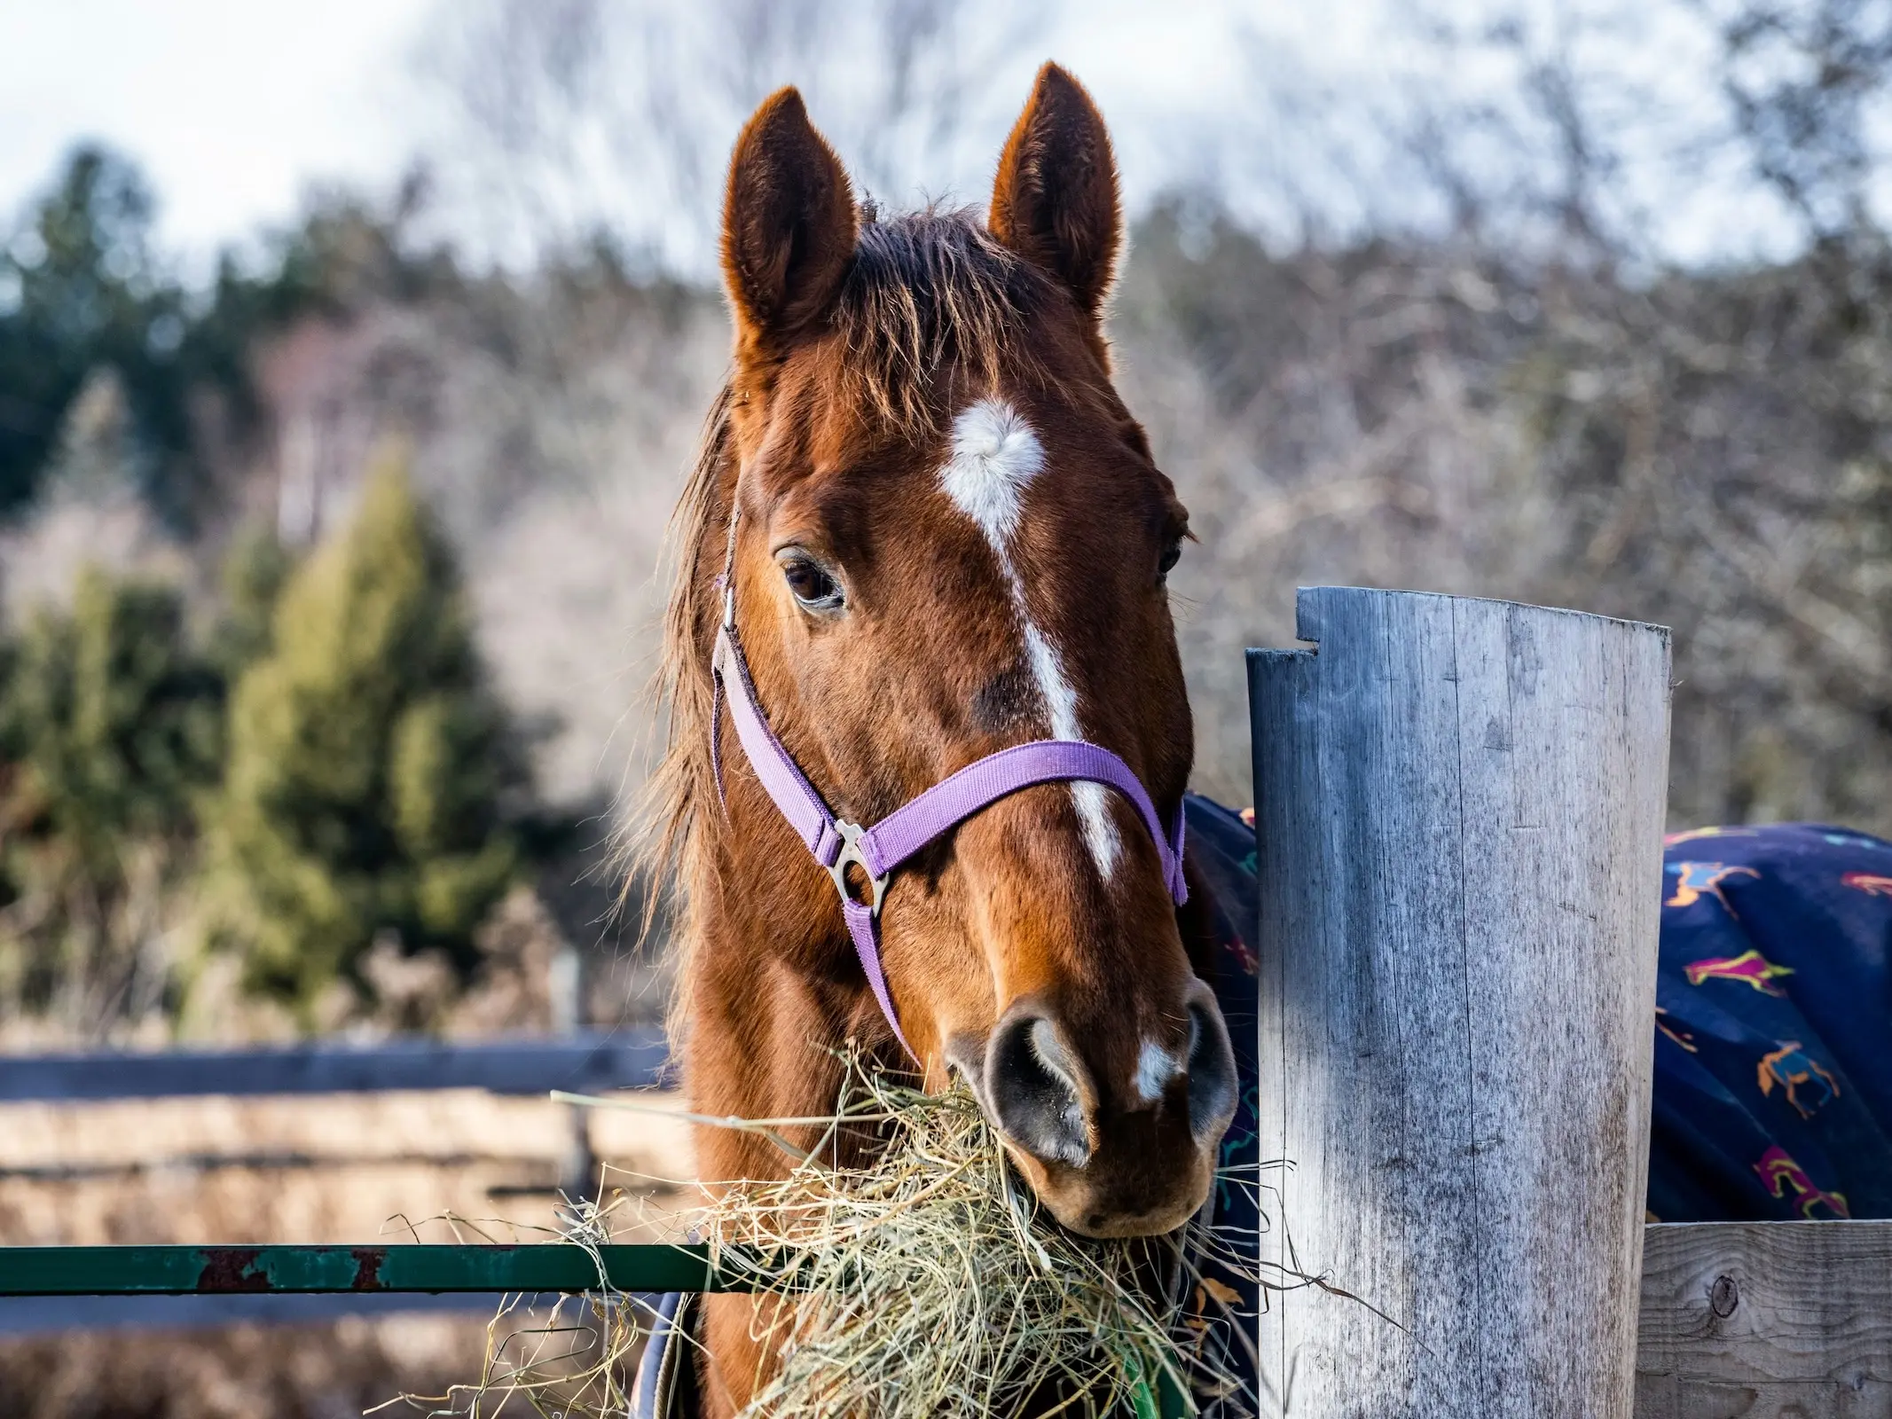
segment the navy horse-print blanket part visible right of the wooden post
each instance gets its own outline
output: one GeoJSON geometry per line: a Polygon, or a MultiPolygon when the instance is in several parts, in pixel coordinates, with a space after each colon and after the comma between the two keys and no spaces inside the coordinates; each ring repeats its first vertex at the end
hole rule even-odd
{"type": "Polygon", "coordinates": [[[1892,1217],[1892,842],[1697,829],[1663,872],[1650,1217],[1892,1217]]]}

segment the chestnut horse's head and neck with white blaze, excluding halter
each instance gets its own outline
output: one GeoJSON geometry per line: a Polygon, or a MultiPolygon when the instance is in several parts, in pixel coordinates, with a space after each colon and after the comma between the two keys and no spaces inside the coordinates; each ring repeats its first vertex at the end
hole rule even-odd
{"type": "MultiPolygon", "coordinates": [[[[832,1077],[812,1061],[844,1037],[901,1058],[834,882],[727,721],[717,804],[725,554],[755,698],[834,814],[878,821],[1042,738],[1111,749],[1181,814],[1192,730],[1164,577],[1188,524],[1111,384],[1120,246],[1109,136],[1052,64],[984,223],[857,206],[793,89],[736,144],[734,373],[681,513],[670,622],[698,1107],[819,1111],[832,1077]]],[[[927,1080],[965,1077],[1065,1226],[1148,1235],[1201,1205],[1234,1060],[1122,795],[1046,783],[988,806],[891,876],[882,933],[927,1080]]],[[[770,1167],[744,1139],[706,1145],[711,1175],[770,1167]]]]}

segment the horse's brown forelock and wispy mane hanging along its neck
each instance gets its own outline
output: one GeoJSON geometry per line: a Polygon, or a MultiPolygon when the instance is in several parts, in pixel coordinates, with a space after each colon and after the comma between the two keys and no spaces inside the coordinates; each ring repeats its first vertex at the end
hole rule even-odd
{"type": "MultiPolygon", "coordinates": [[[[1001,369],[1014,382],[1050,382],[1024,335],[1031,314],[1054,299],[1052,291],[1050,280],[1001,246],[974,212],[927,208],[880,219],[870,206],[863,208],[853,261],[827,318],[840,352],[832,394],[918,447],[940,426],[942,411],[961,388],[993,388],[1001,369]]],[[[715,583],[732,486],[732,388],[725,380],[710,407],[666,534],[670,602],[653,685],[666,742],[624,829],[622,855],[626,897],[641,878],[677,884],[683,901],[664,902],[662,893],[645,893],[645,929],[666,906],[687,912],[719,821],[710,759],[710,649],[721,615],[715,583]]],[[[687,927],[679,933],[679,982],[692,935],[687,927]]],[[[685,1024],[681,1005],[677,991],[674,1041],[685,1024]]]]}

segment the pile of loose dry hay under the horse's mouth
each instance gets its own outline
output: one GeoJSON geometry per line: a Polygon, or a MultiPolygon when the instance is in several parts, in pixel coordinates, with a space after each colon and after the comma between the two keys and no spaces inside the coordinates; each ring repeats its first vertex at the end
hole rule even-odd
{"type": "MultiPolygon", "coordinates": [[[[1148,1277],[1165,1273],[1165,1290],[1194,1298],[1198,1311],[1234,1292],[1186,1273],[1181,1237],[1090,1241],[1060,1228],[963,1090],[927,1095],[850,1067],[842,1107],[815,1120],[827,1131],[810,1154],[776,1131],[810,1120],[704,1122],[761,1131],[797,1158],[781,1181],[704,1190],[702,1205],[679,1218],[727,1275],[791,1302],[757,1311],[781,1366],[751,1413],[984,1419],[1029,1400],[1035,1411],[1073,1417],[1156,1419],[1196,1413],[1209,1396],[1253,1411],[1207,1323],[1152,1300],[1148,1277]],[[885,1139],[872,1165],[834,1165],[842,1130],[885,1139]]],[[[587,1213],[571,1239],[602,1241],[609,1211],[587,1213]]],[[[541,1413],[615,1419],[622,1381],[607,1375],[634,1343],[630,1305],[628,1296],[590,1296],[588,1324],[547,1326],[547,1340],[588,1332],[566,1351],[583,1360],[564,1383],[551,1383],[547,1355],[537,1364],[515,1355],[488,1366],[481,1393],[524,1391],[541,1413]]],[[[475,1400],[473,1411],[486,1410],[475,1400]]]]}

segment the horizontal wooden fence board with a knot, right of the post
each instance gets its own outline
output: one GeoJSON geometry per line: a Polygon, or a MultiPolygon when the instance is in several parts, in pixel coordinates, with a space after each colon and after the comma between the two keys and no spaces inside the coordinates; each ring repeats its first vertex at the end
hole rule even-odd
{"type": "Polygon", "coordinates": [[[1650,1226],[1637,1419],[1892,1417],[1892,1222],[1650,1226]]]}

